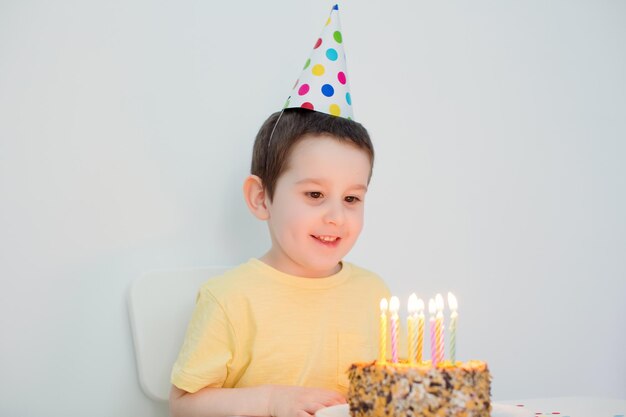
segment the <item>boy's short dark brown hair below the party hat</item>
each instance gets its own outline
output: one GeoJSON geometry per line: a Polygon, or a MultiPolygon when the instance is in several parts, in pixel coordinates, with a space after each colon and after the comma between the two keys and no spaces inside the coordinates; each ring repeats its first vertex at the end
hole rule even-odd
{"type": "Polygon", "coordinates": [[[282,115],[276,112],[267,118],[256,135],[250,168],[250,173],[263,181],[270,201],[278,178],[287,169],[291,150],[309,134],[352,143],[367,152],[371,167],[374,166],[374,147],[369,133],[360,123],[307,109],[285,109],[282,115]]]}

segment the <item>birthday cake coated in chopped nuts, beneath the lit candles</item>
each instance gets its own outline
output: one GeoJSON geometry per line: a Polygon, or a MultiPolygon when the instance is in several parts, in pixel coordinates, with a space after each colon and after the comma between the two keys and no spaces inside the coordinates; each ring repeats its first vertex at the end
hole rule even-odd
{"type": "Polygon", "coordinates": [[[355,363],[348,378],[352,417],[490,416],[485,362],[355,363]]]}

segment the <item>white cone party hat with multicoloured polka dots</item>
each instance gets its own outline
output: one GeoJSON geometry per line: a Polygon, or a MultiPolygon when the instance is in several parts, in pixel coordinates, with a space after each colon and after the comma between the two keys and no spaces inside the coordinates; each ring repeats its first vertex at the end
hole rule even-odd
{"type": "Polygon", "coordinates": [[[337,5],[331,9],[322,34],[287,99],[285,108],[293,107],[353,118],[337,5]]]}

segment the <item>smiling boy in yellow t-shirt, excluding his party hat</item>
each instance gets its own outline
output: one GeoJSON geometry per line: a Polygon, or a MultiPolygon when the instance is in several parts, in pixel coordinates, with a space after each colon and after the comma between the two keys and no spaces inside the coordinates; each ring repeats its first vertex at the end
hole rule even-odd
{"type": "Polygon", "coordinates": [[[342,262],[373,161],[367,131],[347,118],[287,108],[263,124],[243,189],[271,247],[201,288],[172,371],[173,416],[307,417],[345,403],[345,371],[376,358],[389,296],[378,276],[342,262]]]}

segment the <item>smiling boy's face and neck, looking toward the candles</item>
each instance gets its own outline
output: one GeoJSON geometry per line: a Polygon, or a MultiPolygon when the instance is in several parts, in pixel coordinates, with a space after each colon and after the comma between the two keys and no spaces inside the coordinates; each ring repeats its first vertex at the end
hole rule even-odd
{"type": "Polygon", "coordinates": [[[339,271],[363,227],[369,155],[326,136],[307,136],[293,148],[268,205],[272,248],[264,260],[303,277],[339,271]]]}

